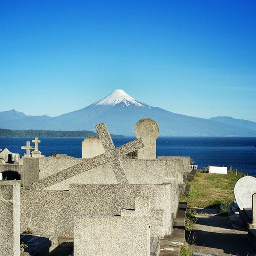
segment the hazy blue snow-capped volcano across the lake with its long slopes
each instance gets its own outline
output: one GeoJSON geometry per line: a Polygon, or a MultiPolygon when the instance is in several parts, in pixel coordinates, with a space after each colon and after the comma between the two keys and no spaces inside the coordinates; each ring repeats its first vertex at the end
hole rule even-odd
{"type": "Polygon", "coordinates": [[[112,134],[134,136],[134,125],[145,117],[158,122],[160,136],[256,136],[251,126],[176,114],[138,102],[120,89],[85,108],[56,117],[26,116],[15,110],[0,112],[0,128],[95,131],[96,124],[106,122],[112,134]]]}

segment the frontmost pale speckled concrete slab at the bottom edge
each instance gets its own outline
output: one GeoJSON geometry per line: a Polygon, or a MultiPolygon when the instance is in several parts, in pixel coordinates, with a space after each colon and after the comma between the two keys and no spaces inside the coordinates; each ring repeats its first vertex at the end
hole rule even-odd
{"type": "Polygon", "coordinates": [[[149,256],[150,224],[143,217],[74,216],[74,256],[149,256]]]}

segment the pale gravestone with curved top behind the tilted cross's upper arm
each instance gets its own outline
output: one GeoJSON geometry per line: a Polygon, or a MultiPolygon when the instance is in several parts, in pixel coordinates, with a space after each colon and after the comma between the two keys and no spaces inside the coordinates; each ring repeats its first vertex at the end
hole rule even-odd
{"type": "Polygon", "coordinates": [[[89,137],[82,141],[82,158],[93,158],[105,152],[99,137],[89,137]]]}

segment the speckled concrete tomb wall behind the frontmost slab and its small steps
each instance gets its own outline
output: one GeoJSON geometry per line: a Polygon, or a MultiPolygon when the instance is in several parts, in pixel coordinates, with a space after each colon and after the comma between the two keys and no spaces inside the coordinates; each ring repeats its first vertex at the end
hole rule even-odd
{"type": "Polygon", "coordinates": [[[176,200],[172,184],[70,184],[72,210],[86,215],[120,215],[123,209],[134,209],[136,197],[149,197],[150,209],[162,210],[162,226],[152,226],[151,236],[163,238],[172,233],[172,216],[176,200]]]}

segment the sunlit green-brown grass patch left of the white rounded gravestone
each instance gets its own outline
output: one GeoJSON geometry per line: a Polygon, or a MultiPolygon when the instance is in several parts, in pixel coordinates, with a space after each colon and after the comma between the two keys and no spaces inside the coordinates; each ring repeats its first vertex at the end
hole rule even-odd
{"type": "Polygon", "coordinates": [[[189,207],[208,207],[213,205],[229,205],[234,200],[234,186],[243,176],[235,172],[225,174],[209,174],[197,172],[190,183],[187,196],[180,196],[181,202],[187,202],[189,207]]]}

